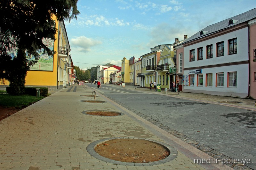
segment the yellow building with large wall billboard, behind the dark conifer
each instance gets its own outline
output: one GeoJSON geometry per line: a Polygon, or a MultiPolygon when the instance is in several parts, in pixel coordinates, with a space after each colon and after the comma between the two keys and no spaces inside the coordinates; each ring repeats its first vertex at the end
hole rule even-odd
{"type": "MultiPolygon", "coordinates": [[[[48,92],[58,92],[72,82],[73,63],[69,55],[70,46],[67,31],[63,20],[55,20],[57,33],[56,40],[43,39],[48,48],[56,51],[53,56],[40,54],[38,62],[27,72],[26,87],[48,87],[48,92]]],[[[0,86],[6,87],[8,81],[0,86]]]]}

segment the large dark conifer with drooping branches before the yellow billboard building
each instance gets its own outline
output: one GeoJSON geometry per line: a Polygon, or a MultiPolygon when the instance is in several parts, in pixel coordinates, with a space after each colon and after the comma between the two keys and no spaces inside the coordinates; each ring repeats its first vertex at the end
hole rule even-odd
{"type": "Polygon", "coordinates": [[[25,92],[25,78],[30,66],[38,60],[38,51],[53,55],[42,39],[55,39],[57,28],[52,16],[57,20],[70,21],[79,14],[78,0],[0,0],[0,79],[10,82],[13,94],[25,92]],[[9,41],[10,33],[12,41],[9,41]],[[15,48],[18,53],[10,55],[15,48]],[[20,62],[20,64],[17,64],[20,62]],[[14,68],[15,66],[15,68],[14,68]]]}

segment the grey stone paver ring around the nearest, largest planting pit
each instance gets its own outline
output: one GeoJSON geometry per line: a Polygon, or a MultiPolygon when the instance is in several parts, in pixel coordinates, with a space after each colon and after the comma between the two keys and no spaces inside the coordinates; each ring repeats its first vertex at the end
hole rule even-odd
{"type": "Polygon", "coordinates": [[[171,145],[160,142],[160,141],[156,141],[153,139],[148,139],[148,138],[142,138],[142,137],[110,137],[110,138],[105,138],[105,139],[100,139],[97,141],[92,142],[91,144],[89,144],[86,147],[86,150],[89,154],[91,154],[94,158],[96,159],[100,159],[102,161],[105,162],[109,162],[112,164],[116,164],[116,165],[124,165],[124,166],[152,166],[152,165],[160,165],[160,164],[164,164],[166,162],[170,162],[173,159],[175,159],[178,156],[178,152],[175,148],[173,148],[171,145]],[[162,160],[158,160],[158,161],[154,161],[154,162],[148,162],[148,163],[133,163],[133,162],[121,162],[121,161],[117,161],[117,160],[113,160],[113,159],[109,159],[106,157],[103,157],[101,155],[99,155],[94,148],[98,145],[98,144],[102,144],[104,142],[107,142],[109,140],[113,140],[113,139],[141,139],[141,140],[148,140],[151,142],[154,142],[156,144],[160,144],[162,146],[164,146],[165,148],[167,148],[170,151],[170,155],[162,160]]]}

